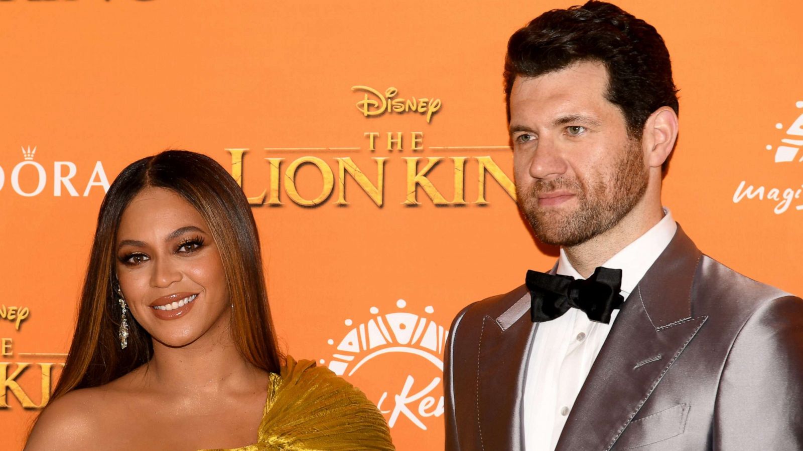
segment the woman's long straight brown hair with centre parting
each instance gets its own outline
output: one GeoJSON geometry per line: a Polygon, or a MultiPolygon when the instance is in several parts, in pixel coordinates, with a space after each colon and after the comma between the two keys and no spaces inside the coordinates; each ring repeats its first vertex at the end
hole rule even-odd
{"type": "Polygon", "coordinates": [[[233,306],[231,338],[247,362],[279,372],[283,357],[267,305],[256,223],[243,190],[210,157],[169,150],[128,165],[100,205],[78,323],[52,400],[77,388],[107,384],[153,356],[150,335],[130,314],[128,347],[120,349],[121,309],[113,286],[120,217],[132,198],[148,187],[172,190],[206,220],[220,251],[233,306]]]}

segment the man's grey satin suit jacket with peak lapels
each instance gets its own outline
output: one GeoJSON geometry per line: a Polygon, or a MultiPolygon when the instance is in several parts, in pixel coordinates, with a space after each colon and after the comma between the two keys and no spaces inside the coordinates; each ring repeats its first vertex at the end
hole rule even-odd
{"type": "MultiPolygon", "coordinates": [[[[523,449],[529,308],[520,286],[454,319],[447,450],[523,449]]],[[[803,301],[703,255],[678,228],[613,322],[556,449],[803,449],[803,301]]]]}

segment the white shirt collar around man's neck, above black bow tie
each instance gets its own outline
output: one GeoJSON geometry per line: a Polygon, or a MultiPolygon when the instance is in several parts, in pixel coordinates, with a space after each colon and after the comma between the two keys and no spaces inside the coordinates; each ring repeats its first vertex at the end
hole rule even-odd
{"type": "MultiPolygon", "coordinates": [[[[663,208],[663,218],[658,224],[653,225],[642,236],[636,238],[634,242],[625,246],[607,262],[601,266],[613,270],[622,270],[622,293],[627,298],[634,290],[638,282],[644,277],[650,266],[653,265],[658,256],[661,255],[669,242],[675,237],[678,225],[672,218],[672,213],[666,207],[663,208]]],[[[569,275],[573,278],[585,278],[574,269],[566,257],[563,248],[560,248],[560,257],[557,263],[557,274],[569,275]]]]}

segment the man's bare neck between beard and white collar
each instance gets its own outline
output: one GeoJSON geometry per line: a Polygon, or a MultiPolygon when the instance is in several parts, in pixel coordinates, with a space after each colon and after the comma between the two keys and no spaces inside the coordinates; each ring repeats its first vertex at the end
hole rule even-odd
{"type": "Polygon", "coordinates": [[[610,230],[582,242],[577,246],[564,247],[566,258],[583,277],[589,277],[597,266],[602,266],[611,257],[636,241],[658,224],[663,217],[663,209],[658,202],[657,207],[636,205],[622,220],[610,230]]]}

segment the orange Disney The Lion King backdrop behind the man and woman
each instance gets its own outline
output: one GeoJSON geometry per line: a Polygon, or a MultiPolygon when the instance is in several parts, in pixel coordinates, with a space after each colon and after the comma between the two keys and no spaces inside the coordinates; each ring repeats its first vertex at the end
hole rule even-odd
{"type": "MultiPolygon", "coordinates": [[[[451,319],[557,254],[516,210],[501,74],[571,4],[0,0],[0,449],[63,368],[108,185],[165,148],[241,181],[283,351],[362,388],[398,449],[442,449],[451,319]]],[[[803,294],[803,4],[619,4],[680,88],[665,205],[803,294]]]]}

